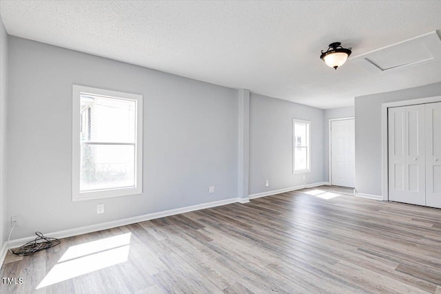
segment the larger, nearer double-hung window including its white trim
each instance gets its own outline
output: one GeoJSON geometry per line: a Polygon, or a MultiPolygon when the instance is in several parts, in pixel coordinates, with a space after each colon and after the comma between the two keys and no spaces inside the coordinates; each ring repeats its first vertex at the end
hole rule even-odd
{"type": "Polygon", "coordinates": [[[143,96],[72,87],[72,200],[142,192],[143,96]]]}

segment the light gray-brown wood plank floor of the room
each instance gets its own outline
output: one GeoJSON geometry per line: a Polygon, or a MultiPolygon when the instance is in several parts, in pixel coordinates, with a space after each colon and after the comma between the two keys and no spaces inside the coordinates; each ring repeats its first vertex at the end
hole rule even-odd
{"type": "Polygon", "coordinates": [[[303,189],[65,238],[8,255],[1,277],[23,284],[1,293],[441,293],[441,209],[336,195],[303,189]]]}

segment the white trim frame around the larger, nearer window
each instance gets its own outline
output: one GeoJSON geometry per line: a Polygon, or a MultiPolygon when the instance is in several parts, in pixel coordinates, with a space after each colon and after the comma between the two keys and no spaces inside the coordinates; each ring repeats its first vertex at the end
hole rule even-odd
{"type": "Polygon", "coordinates": [[[72,201],[129,196],[143,192],[143,96],[110,90],[72,85],[72,201]],[[81,94],[107,96],[136,102],[135,187],[80,193],[80,104],[81,94]]]}

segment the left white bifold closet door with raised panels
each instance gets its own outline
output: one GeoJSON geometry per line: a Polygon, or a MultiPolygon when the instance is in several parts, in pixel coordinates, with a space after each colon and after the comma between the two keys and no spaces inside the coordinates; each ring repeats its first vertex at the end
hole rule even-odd
{"type": "Polygon", "coordinates": [[[424,105],[389,108],[389,200],[426,204],[424,105]]]}

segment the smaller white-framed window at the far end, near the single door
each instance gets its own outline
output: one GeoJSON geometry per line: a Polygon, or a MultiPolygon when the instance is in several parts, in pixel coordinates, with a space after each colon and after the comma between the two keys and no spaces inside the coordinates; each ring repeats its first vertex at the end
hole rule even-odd
{"type": "Polygon", "coordinates": [[[309,125],[307,120],[293,120],[293,172],[311,171],[311,149],[309,145],[309,125]]]}

